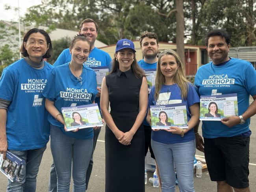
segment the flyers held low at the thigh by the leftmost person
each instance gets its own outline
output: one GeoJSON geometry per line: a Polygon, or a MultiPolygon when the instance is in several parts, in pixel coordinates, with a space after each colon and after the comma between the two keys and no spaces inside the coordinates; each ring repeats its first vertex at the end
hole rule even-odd
{"type": "Polygon", "coordinates": [[[3,154],[0,157],[0,171],[13,182],[18,174],[19,168],[22,165],[22,159],[17,155],[7,151],[6,158],[3,159],[3,154]]]}

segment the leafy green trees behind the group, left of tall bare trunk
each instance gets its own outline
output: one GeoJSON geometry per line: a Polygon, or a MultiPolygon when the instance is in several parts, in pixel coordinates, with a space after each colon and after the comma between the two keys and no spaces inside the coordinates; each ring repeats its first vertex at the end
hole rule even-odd
{"type": "Polygon", "coordinates": [[[100,26],[98,40],[106,44],[135,39],[144,31],[175,42],[173,7],[173,0],[46,0],[30,7],[24,22],[77,31],[82,19],[93,18],[100,26]]]}

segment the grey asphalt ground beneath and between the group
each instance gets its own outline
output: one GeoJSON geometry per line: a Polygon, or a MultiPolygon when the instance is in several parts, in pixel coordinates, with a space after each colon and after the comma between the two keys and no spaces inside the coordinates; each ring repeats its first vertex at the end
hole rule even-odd
{"type": "MultiPolygon", "coordinates": [[[[201,127],[201,126],[200,126],[201,127]]],[[[199,127],[199,133],[201,128],[199,127]]],[[[256,116],[251,118],[250,129],[252,130],[252,135],[250,136],[250,164],[249,164],[249,181],[250,181],[250,191],[256,192],[256,116]]],[[[98,142],[94,152],[94,165],[91,174],[91,179],[89,182],[88,192],[104,192],[105,191],[105,145],[104,145],[104,134],[105,128],[101,129],[100,135],[98,137],[98,142]]],[[[63,149],[65,150],[65,149],[63,149]]],[[[196,151],[197,155],[204,155],[200,151],[196,151]]],[[[48,191],[48,181],[50,165],[52,163],[52,154],[50,151],[50,142],[48,142],[47,149],[43,155],[43,159],[40,165],[38,177],[37,177],[37,192],[47,192],[48,191]]],[[[152,177],[153,173],[148,172],[148,178],[152,177]]],[[[118,181],[117,181],[118,182],[118,181]]],[[[127,181],[132,182],[132,178],[127,181]]],[[[0,192],[6,191],[7,177],[0,173],[0,192]]],[[[208,171],[204,171],[202,178],[197,178],[194,175],[194,185],[196,192],[215,192],[217,191],[216,182],[210,180],[208,171]]],[[[70,184],[70,191],[72,191],[72,183],[70,184]]],[[[152,183],[147,183],[145,186],[146,192],[159,192],[159,188],[154,188],[152,183]]],[[[178,192],[178,187],[176,186],[176,191],[178,192]]],[[[122,190],[120,189],[120,192],[122,190]]]]}

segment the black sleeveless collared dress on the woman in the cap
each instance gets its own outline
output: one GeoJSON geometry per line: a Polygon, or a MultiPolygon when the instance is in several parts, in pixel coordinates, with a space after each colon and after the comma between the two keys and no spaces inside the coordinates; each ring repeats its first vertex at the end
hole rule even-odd
{"type": "MultiPolygon", "coordinates": [[[[106,76],[111,116],[124,133],[134,125],[139,113],[139,90],[142,78],[137,79],[132,69],[106,76]]],[[[145,136],[143,125],[136,131],[131,144],[117,140],[106,125],[106,192],[145,192],[145,136]]]]}

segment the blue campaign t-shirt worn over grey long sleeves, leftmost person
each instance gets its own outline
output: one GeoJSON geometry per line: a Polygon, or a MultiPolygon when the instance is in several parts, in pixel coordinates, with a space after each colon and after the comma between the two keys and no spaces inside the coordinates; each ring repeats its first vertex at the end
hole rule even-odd
{"type": "Polygon", "coordinates": [[[42,90],[52,68],[47,62],[40,70],[32,68],[23,58],[3,70],[0,98],[11,101],[6,120],[8,150],[33,150],[47,144],[50,124],[42,90]]]}

